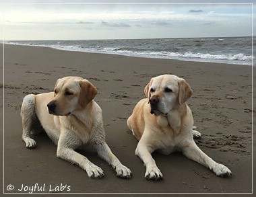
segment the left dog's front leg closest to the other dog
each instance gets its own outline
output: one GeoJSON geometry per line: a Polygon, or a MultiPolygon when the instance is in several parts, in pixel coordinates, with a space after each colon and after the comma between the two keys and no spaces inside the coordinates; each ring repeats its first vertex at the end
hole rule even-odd
{"type": "Polygon", "coordinates": [[[125,179],[131,178],[131,170],[117,159],[105,142],[94,142],[94,147],[96,148],[98,156],[115,169],[117,177],[125,179]]]}

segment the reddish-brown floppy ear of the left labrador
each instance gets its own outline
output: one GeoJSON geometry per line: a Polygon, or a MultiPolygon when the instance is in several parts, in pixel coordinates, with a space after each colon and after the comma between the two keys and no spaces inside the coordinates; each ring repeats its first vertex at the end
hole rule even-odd
{"type": "Polygon", "coordinates": [[[92,83],[86,79],[79,81],[79,83],[81,86],[79,104],[82,106],[82,108],[85,108],[87,104],[89,104],[94,99],[98,91],[96,87],[94,87],[94,85],[92,85],[92,83]]]}

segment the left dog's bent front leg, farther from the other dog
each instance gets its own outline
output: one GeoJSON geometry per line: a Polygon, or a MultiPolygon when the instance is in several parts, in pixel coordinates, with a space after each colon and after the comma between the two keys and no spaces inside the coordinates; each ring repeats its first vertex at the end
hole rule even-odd
{"type": "Polygon", "coordinates": [[[104,176],[103,170],[90,162],[89,159],[84,157],[84,155],[81,155],[71,149],[71,145],[69,144],[70,142],[68,142],[69,140],[69,138],[60,136],[57,147],[57,157],[79,165],[79,167],[86,170],[86,173],[90,178],[102,178],[104,176]],[[69,147],[67,147],[67,145],[69,145],[69,147]]]}

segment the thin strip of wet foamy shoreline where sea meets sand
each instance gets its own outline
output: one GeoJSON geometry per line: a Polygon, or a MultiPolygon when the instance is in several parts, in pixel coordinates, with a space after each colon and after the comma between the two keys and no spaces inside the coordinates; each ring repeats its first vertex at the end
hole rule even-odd
{"type": "MultiPolygon", "coordinates": [[[[1,43],[0,43],[1,44],[1,43]]],[[[55,50],[64,50],[64,51],[69,51],[69,52],[85,52],[85,53],[93,53],[93,54],[114,54],[114,55],[121,55],[121,56],[130,56],[130,57],[137,57],[137,58],[156,58],[156,59],[166,59],[166,60],[174,60],[174,61],[188,61],[188,62],[199,62],[199,63],[220,63],[220,64],[226,64],[226,65],[242,65],[242,66],[253,66],[253,58],[250,64],[238,64],[238,63],[227,63],[225,61],[206,61],[206,60],[201,60],[201,59],[197,59],[197,61],[193,60],[193,59],[179,59],[179,58],[164,58],[164,57],[159,57],[159,56],[139,56],[139,55],[133,55],[133,54],[119,54],[119,53],[114,53],[114,52],[95,52],[95,51],[82,51],[82,50],[71,50],[71,49],[67,49],[67,48],[55,48],[55,47],[51,47],[51,46],[36,46],[36,45],[29,45],[29,44],[9,44],[9,43],[4,43],[7,45],[18,45],[18,46],[34,46],[34,47],[45,47],[45,48],[52,48],[55,50]]]]}

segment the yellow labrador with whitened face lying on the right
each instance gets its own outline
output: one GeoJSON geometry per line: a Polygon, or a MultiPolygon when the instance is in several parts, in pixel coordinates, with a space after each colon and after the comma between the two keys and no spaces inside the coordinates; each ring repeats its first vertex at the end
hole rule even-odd
{"type": "Polygon", "coordinates": [[[193,116],[186,104],[192,89],[184,79],[175,75],[154,77],[146,85],[145,93],[148,98],[137,103],[127,125],[139,141],[135,155],[146,165],[146,178],[162,178],[151,155],[156,150],[165,155],[181,151],[216,175],[231,175],[226,166],[205,155],[193,140],[193,136],[201,134],[193,130],[193,116]]]}

